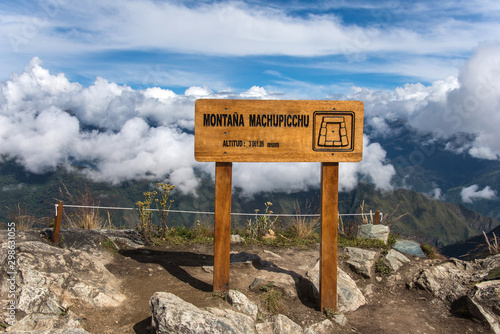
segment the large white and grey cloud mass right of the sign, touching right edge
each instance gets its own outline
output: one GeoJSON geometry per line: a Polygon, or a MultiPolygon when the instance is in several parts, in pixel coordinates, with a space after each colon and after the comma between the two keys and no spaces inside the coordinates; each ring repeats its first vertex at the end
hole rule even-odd
{"type": "Polygon", "coordinates": [[[393,91],[354,87],[350,98],[365,102],[374,136],[394,135],[389,124],[403,121],[421,134],[448,142],[456,153],[478,159],[500,157],[500,45],[484,45],[461,68],[425,86],[406,84],[393,91]]]}

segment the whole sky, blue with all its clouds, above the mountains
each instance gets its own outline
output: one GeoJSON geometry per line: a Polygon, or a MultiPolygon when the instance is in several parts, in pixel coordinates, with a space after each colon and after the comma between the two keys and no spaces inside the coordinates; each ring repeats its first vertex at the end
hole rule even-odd
{"type": "MultiPolygon", "coordinates": [[[[33,173],[87,165],[99,181],[166,179],[190,193],[196,170],[214,172],[194,160],[197,98],[355,99],[363,161],[341,164],[340,189],[363,179],[390,190],[377,140],[395,121],[500,159],[499,78],[498,0],[2,0],[0,156],[33,173]]],[[[233,185],[319,179],[318,165],[237,164],[233,185]]],[[[496,191],[471,187],[464,200],[496,191]]]]}

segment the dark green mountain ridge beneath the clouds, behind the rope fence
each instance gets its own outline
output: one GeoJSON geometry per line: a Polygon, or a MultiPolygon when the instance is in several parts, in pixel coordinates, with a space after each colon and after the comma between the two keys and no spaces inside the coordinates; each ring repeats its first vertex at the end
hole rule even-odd
{"type": "MultiPolygon", "coordinates": [[[[213,211],[214,183],[208,177],[202,177],[197,197],[175,192],[172,195],[174,203],[172,209],[213,211]]],[[[78,172],[68,172],[63,168],[45,175],[26,173],[15,162],[0,163],[0,222],[9,218],[9,210],[16,208],[19,203],[25,207],[30,215],[37,218],[53,217],[54,204],[58,199],[64,199],[64,187],[73,194],[85,192],[89,189],[96,204],[101,206],[135,207],[135,202],[143,200],[143,192],[153,190],[151,180],[130,181],[118,186],[107,183],[93,182],[78,172]],[[62,193],[61,193],[62,191],[62,193]]],[[[294,213],[295,203],[299,203],[302,213],[318,213],[319,190],[307,190],[298,193],[261,193],[254,198],[238,196],[235,189],[232,200],[233,212],[253,213],[255,209],[263,212],[263,203],[271,201],[274,212],[294,213]],[[310,208],[306,208],[310,203],[310,208]],[[307,211],[307,212],[306,212],[307,211]]],[[[339,194],[339,211],[341,213],[358,213],[364,202],[364,212],[380,210],[385,215],[385,223],[389,224],[395,234],[414,238],[420,242],[436,246],[445,246],[465,240],[482,231],[490,231],[500,223],[491,217],[486,217],[471,211],[460,204],[447,203],[435,200],[430,196],[408,189],[398,189],[389,192],[376,190],[373,185],[360,183],[350,192],[339,194]],[[397,211],[394,210],[397,208],[397,211]],[[392,213],[392,214],[391,214],[392,213]],[[405,214],[398,221],[395,217],[405,214]]],[[[77,204],[77,203],[67,203],[77,204]]],[[[68,211],[69,212],[69,211],[68,211]]],[[[104,213],[105,214],[105,213],[104,213]]],[[[204,219],[213,219],[213,216],[180,216],[169,215],[170,224],[191,225],[204,219]]],[[[119,227],[135,227],[137,213],[135,211],[111,212],[113,222],[119,227]]],[[[244,217],[239,220],[245,223],[244,217]]],[[[359,218],[345,218],[349,224],[359,218]]],[[[283,220],[283,223],[287,223],[283,220]]]]}

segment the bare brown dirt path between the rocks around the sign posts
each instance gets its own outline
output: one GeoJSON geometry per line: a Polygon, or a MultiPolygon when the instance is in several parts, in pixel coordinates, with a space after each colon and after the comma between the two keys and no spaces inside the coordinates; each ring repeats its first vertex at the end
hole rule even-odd
{"type": "MultiPolygon", "coordinates": [[[[314,266],[319,256],[317,247],[301,250],[232,246],[231,251],[256,254],[263,260],[272,261],[282,272],[302,276],[314,266]]],[[[357,311],[346,314],[348,324],[339,327],[338,333],[491,333],[479,322],[452,315],[447,305],[426,292],[408,290],[406,283],[418,264],[414,259],[399,274],[381,281],[355,278],[368,302],[357,311]]],[[[198,307],[229,307],[211,292],[212,265],[212,246],[122,251],[107,267],[122,280],[122,290],[128,300],[116,309],[89,309],[75,305],[73,311],[83,315],[84,328],[91,333],[154,333],[149,299],[157,291],[171,292],[198,307]]],[[[230,288],[239,289],[263,310],[259,293],[248,289],[257,276],[259,269],[252,263],[233,263],[230,288]]],[[[286,300],[280,313],[303,327],[325,319],[314,304],[303,298],[286,300]]],[[[270,316],[263,313],[264,319],[270,316]]]]}

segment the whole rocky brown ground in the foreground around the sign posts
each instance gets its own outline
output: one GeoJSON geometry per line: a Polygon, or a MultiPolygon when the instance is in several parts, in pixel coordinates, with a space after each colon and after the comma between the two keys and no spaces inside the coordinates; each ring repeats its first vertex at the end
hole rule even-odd
{"type": "MultiPolygon", "coordinates": [[[[8,320],[11,276],[4,231],[0,241],[1,312],[8,320]]],[[[155,333],[153,295],[156,327],[165,325],[159,324],[163,321],[159,317],[179,316],[165,315],[161,308],[164,312],[176,309],[169,305],[181,302],[191,303],[194,314],[206,317],[229,319],[227,312],[232,311],[221,315],[222,311],[211,309],[209,315],[205,308],[238,311],[234,302],[231,306],[212,293],[213,246],[144,247],[133,231],[82,230],[62,231],[61,244],[51,245],[39,232],[17,233],[16,325],[3,330],[155,333]],[[168,292],[182,301],[157,292],[168,292]]],[[[275,314],[286,316],[299,326],[298,332],[307,333],[500,331],[500,281],[490,274],[500,266],[500,256],[462,262],[395,251],[340,249],[339,311],[345,319],[336,315],[321,328],[318,324],[324,325],[327,316],[318,310],[315,299],[319,245],[299,249],[232,244],[231,251],[230,289],[243,293],[258,307],[258,314],[245,319],[251,318],[248,326],[257,327],[260,333],[271,331],[271,319],[282,320],[275,314]],[[375,272],[380,256],[392,268],[387,275],[375,272]],[[263,299],[266,289],[262,287],[270,283],[282,295],[276,312],[267,310],[263,299]]]]}

